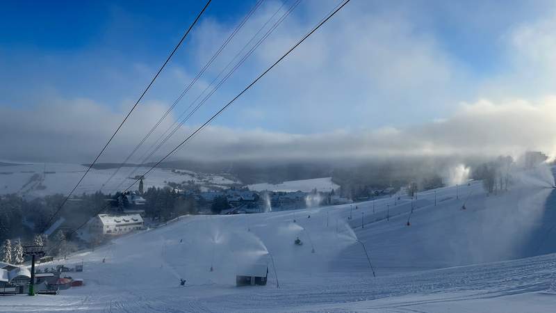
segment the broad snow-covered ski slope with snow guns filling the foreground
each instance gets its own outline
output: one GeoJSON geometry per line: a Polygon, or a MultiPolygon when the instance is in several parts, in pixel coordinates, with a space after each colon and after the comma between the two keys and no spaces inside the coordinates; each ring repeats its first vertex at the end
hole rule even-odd
{"type": "Polygon", "coordinates": [[[58,296],[3,297],[0,310],[554,312],[553,180],[517,178],[521,183],[489,197],[473,182],[416,200],[184,216],[49,264],[83,260],[83,273],[72,275],[86,285],[58,296]],[[297,236],[302,246],[294,245],[297,236]],[[236,268],[254,262],[268,262],[268,284],[235,287],[236,268]]]}

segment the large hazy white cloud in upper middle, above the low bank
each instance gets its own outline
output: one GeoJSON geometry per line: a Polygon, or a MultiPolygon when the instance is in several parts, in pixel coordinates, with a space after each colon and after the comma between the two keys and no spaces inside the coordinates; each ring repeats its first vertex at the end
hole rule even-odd
{"type": "MultiPolygon", "coordinates": [[[[236,89],[276,61],[334,5],[298,7],[233,77],[236,89]]],[[[272,2],[253,17],[245,26],[250,31],[239,33],[222,58],[231,58],[276,8],[272,2]]],[[[199,27],[195,44],[203,59],[234,26],[211,20],[199,27]]],[[[265,118],[235,109],[227,116],[279,131],[410,125],[441,118],[468,99],[467,77],[465,66],[427,29],[398,10],[375,11],[371,3],[352,1],[234,104],[244,110],[256,106],[265,118]]],[[[236,89],[223,88],[222,94],[231,98],[236,89]]]]}

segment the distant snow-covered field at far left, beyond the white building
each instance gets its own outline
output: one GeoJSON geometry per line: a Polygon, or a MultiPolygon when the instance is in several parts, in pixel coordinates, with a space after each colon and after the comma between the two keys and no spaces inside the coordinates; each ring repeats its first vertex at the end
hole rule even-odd
{"type": "MultiPolygon", "coordinates": [[[[106,186],[102,188],[104,193],[122,191],[130,186],[136,175],[142,175],[149,168],[123,167],[106,186]],[[133,174],[133,175],[132,175],[133,174]]],[[[79,164],[67,163],[30,163],[17,166],[0,166],[0,194],[19,193],[29,197],[51,195],[54,193],[69,193],[83,173],[87,170],[79,164]]],[[[95,193],[103,186],[115,172],[115,168],[90,170],[83,182],[74,194],[95,193]]],[[[187,182],[193,180],[204,186],[225,186],[234,184],[234,181],[220,175],[208,175],[191,172],[187,170],[174,170],[167,168],[155,168],[147,175],[144,183],[145,188],[150,186],[167,186],[166,182],[187,182]]]]}

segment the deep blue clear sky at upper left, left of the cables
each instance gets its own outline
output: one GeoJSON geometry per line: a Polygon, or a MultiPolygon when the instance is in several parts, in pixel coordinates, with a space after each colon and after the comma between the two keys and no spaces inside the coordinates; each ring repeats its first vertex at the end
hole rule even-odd
{"type": "MultiPolygon", "coordinates": [[[[250,5],[218,4],[211,6],[209,15],[222,20],[236,19],[250,5]]],[[[202,5],[200,1],[6,2],[0,22],[6,70],[2,79],[10,85],[2,90],[8,97],[5,101],[16,106],[35,102],[22,95],[29,88],[63,97],[90,97],[107,105],[114,105],[115,98],[137,97],[136,88],[145,85],[145,77],[126,86],[117,81],[111,86],[105,79],[133,74],[134,64],[161,64],[202,5]]]]}

